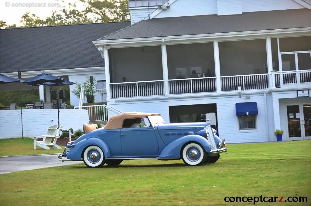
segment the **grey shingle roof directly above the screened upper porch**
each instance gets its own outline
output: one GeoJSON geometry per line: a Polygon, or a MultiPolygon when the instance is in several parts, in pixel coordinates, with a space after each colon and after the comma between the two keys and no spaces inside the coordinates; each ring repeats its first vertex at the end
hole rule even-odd
{"type": "Polygon", "coordinates": [[[247,12],[241,15],[201,15],[142,20],[97,40],[167,37],[193,34],[311,27],[311,10],[247,12]]]}

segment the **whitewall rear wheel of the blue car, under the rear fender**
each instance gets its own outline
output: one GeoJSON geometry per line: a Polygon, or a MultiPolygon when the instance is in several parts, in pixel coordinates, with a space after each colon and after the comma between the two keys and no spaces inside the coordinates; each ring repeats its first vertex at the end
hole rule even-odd
{"type": "Polygon", "coordinates": [[[83,152],[83,162],[88,167],[102,167],[105,164],[105,157],[100,147],[91,145],[83,152]]]}

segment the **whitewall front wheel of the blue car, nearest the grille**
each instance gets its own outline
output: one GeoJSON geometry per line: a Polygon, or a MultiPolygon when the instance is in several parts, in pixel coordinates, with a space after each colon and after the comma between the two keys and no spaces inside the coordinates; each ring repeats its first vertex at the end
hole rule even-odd
{"type": "Polygon", "coordinates": [[[188,143],[182,151],[183,162],[190,166],[199,166],[206,160],[206,152],[197,143],[188,143]]]}

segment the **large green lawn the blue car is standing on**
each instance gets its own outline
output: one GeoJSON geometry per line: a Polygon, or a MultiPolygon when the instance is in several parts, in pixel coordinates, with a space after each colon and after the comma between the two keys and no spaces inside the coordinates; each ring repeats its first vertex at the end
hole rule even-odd
{"type": "MultiPolygon", "coordinates": [[[[307,196],[311,141],[229,145],[214,164],[127,160],[117,167],[84,164],[0,175],[1,205],[240,205],[225,196],[307,196]]],[[[245,203],[253,205],[253,203],[245,203]]]]}

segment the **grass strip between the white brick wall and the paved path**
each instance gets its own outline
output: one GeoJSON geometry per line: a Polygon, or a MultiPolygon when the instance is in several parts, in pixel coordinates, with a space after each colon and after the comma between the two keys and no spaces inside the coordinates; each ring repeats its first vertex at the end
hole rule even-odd
{"type": "MultiPolygon", "coordinates": [[[[56,142],[57,143],[57,142],[56,142]]],[[[64,148],[64,146],[60,146],[64,148]]],[[[37,146],[34,150],[34,140],[31,138],[12,138],[12,139],[0,139],[0,156],[10,155],[39,155],[39,154],[53,154],[62,153],[61,150],[45,150],[37,146]]]]}

